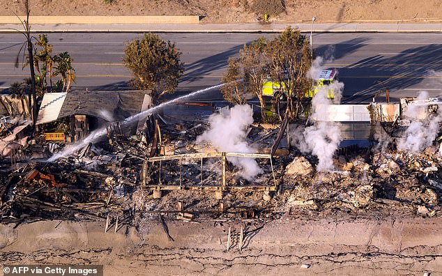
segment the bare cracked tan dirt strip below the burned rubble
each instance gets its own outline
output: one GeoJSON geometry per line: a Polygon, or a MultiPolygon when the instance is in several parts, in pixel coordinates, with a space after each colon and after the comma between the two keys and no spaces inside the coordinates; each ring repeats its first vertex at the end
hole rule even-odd
{"type": "Polygon", "coordinates": [[[241,252],[235,245],[227,251],[229,227],[238,231],[240,224],[166,222],[173,242],[155,220],[117,233],[104,233],[98,222],[3,224],[0,263],[102,264],[105,275],[442,273],[439,217],[254,221],[245,224],[241,252]]]}

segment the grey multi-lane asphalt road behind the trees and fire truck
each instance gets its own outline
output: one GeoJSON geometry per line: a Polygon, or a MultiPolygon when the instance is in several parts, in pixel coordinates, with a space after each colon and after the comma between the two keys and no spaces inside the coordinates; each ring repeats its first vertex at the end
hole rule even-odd
{"type": "MultiPolygon", "coordinates": [[[[309,36],[310,34],[307,34],[309,36]]],[[[77,83],[73,88],[128,89],[130,72],[123,67],[124,42],[137,33],[49,33],[54,52],[67,51],[74,59],[77,83]]],[[[183,53],[185,75],[178,95],[220,83],[229,56],[238,54],[259,33],[160,33],[183,53]]],[[[0,89],[28,76],[15,68],[15,57],[24,41],[19,33],[0,33],[0,89]]],[[[441,33],[314,33],[316,53],[329,56],[326,68],[337,68],[344,82],[346,102],[371,101],[388,88],[390,98],[416,95],[426,90],[442,94],[441,33]]],[[[21,59],[20,59],[21,60],[21,59]]],[[[218,91],[196,100],[222,100],[218,91]]]]}

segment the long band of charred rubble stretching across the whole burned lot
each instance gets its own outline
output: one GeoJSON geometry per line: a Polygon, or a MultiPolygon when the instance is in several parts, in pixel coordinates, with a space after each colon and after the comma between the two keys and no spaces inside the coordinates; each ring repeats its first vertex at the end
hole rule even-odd
{"type": "MultiPolygon", "coordinates": [[[[17,162],[0,175],[5,183],[0,190],[1,220],[103,220],[117,214],[142,225],[158,215],[224,221],[272,220],[287,211],[313,217],[369,210],[423,216],[440,212],[442,158],[436,146],[418,154],[372,154],[370,148],[339,151],[335,171],[317,172],[314,157],[296,149],[289,153],[282,139],[272,160],[257,159],[262,173],[254,181],[239,177],[238,168],[228,159],[224,175],[222,161],[215,158],[148,164],[153,156],[213,153],[213,148],[195,143],[206,128],[202,118],[185,121],[170,116],[153,128],[155,135],[126,136],[118,128],[109,128],[106,141],[87,144],[56,162],[36,158],[61,151],[63,145],[44,144],[40,153],[38,143],[31,145],[26,162],[17,162]],[[219,185],[222,177],[238,190],[204,189],[219,185]],[[169,190],[155,196],[167,185],[169,190]]],[[[254,124],[247,130],[247,140],[258,153],[268,154],[279,130],[277,125],[254,124]]]]}

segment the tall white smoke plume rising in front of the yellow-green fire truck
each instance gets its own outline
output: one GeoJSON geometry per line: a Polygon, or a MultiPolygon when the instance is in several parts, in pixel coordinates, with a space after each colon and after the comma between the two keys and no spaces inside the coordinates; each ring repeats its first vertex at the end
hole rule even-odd
{"type": "MultiPolygon", "coordinates": [[[[307,76],[316,78],[323,70],[323,58],[314,60],[307,76]]],[[[339,104],[342,98],[344,83],[334,81],[324,86],[313,96],[310,122],[313,125],[303,128],[300,126],[291,132],[292,145],[303,153],[312,153],[318,158],[317,171],[333,169],[333,155],[342,141],[339,123],[327,121],[328,107],[333,103],[339,104]],[[333,101],[328,98],[328,90],[333,89],[333,101]]]]}

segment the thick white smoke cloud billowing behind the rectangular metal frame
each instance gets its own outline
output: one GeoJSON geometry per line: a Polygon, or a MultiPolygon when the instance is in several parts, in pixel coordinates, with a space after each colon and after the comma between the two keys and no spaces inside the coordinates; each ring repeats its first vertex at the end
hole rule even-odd
{"type": "MultiPolygon", "coordinates": [[[[218,151],[254,153],[246,141],[247,127],[253,123],[250,105],[236,105],[229,114],[213,114],[208,118],[210,128],[197,138],[197,144],[209,142],[218,151]]],[[[258,163],[252,158],[231,158],[228,160],[241,168],[241,176],[251,181],[262,173],[258,163]]]]}

